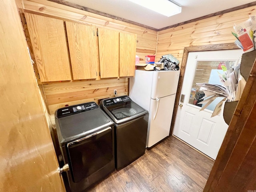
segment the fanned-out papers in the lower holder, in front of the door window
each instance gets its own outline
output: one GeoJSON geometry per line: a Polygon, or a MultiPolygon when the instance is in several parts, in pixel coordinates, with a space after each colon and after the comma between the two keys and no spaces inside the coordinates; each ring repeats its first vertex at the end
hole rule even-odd
{"type": "Polygon", "coordinates": [[[200,86],[200,90],[204,91],[205,96],[202,102],[198,104],[205,104],[200,111],[209,106],[217,97],[223,99],[216,105],[212,117],[220,114],[222,104],[224,102],[238,101],[244,90],[246,81],[240,74],[240,64],[233,70],[232,68],[224,72],[223,75],[219,74],[220,81],[223,85],[196,83],[200,86]]]}

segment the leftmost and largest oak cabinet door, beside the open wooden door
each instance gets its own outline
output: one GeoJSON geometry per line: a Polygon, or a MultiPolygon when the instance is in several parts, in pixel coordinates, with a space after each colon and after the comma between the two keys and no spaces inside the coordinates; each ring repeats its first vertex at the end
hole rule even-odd
{"type": "Polygon", "coordinates": [[[62,20],[25,13],[41,82],[71,80],[62,20]]]}

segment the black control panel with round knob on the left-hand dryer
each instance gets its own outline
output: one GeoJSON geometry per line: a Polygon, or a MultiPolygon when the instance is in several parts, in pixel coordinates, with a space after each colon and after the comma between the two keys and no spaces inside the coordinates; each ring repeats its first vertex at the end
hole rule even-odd
{"type": "Polygon", "coordinates": [[[76,114],[76,113],[98,109],[98,108],[99,106],[95,102],[73,105],[73,106],[68,106],[68,107],[58,109],[56,116],[57,118],[62,118],[69,115],[76,114]]]}

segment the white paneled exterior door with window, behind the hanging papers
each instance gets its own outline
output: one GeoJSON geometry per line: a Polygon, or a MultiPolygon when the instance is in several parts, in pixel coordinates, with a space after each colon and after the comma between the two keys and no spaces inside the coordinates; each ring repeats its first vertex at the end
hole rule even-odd
{"type": "Polygon", "coordinates": [[[214,160],[228,125],[223,119],[223,108],[220,115],[211,118],[218,101],[199,112],[202,104],[198,104],[198,101],[201,101],[203,92],[198,90],[195,83],[221,84],[218,77],[218,73],[223,73],[221,66],[224,63],[236,65],[242,53],[242,50],[220,50],[188,54],[181,91],[185,98],[184,102],[180,102],[173,134],[214,160]]]}

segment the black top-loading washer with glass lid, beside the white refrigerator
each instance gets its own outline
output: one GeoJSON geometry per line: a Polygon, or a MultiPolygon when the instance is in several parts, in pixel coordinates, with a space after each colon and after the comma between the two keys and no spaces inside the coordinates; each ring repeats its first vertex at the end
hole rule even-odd
{"type": "Polygon", "coordinates": [[[129,96],[104,99],[100,107],[115,124],[116,169],[120,170],[145,153],[148,111],[129,96]]]}

